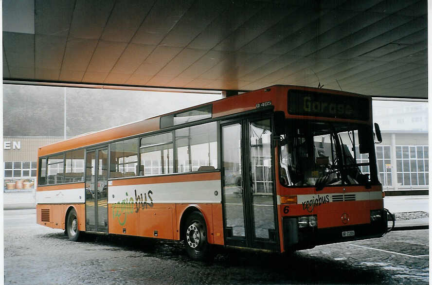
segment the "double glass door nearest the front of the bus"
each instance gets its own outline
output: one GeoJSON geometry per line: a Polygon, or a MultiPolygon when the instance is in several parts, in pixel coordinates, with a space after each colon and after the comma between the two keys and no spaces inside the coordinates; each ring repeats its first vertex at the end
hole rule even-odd
{"type": "Polygon", "coordinates": [[[221,124],[225,244],[278,249],[271,119],[221,124]]]}

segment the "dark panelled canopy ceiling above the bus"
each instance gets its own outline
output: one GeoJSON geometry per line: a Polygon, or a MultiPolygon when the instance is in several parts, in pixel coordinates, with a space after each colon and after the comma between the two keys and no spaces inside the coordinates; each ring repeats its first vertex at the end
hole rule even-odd
{"type": "Polygon", "coordinates": [[[427,98],[426,0],[3,0],[3,79],[427,98]]]}

